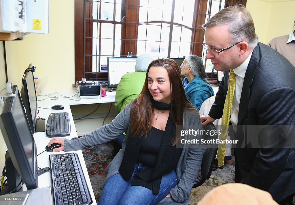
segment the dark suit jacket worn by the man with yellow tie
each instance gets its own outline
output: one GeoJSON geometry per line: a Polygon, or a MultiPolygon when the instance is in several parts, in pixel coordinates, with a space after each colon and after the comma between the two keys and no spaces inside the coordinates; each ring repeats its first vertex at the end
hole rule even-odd
{"type": "MultiPolygon", "coordinates": [[[[219,85],[209,112],[222,117],[229,71],[219,85]]],[[[263,43],[253,50],[242,87],[236,137],[244,138],[239,125],[295,125],[295,68],[263,43]]],[[[271,138],[272,133],[266,138],[271,138]]],[[[246,143],[247,145],[247,143],[246,143]]],[[[245,147],[245,146],[243,146],[245,147]]],[[[280,202],[295,193],[294,148],[235,148],[238,182],[268,191],[280,202]]]]}

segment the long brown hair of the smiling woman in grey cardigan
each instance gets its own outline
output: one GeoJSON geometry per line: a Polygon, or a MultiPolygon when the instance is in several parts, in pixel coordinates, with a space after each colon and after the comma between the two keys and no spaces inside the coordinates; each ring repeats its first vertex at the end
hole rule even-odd
{"type": "MultiPolygon", "coordinates": [[[[180,122],[181,111],[187,107],[194,107],[186,98],[178,64],[173,59],[163,58],[154,60],[148,66],[142,91],[139,96],[131,102],[130,136],[132,138],[136,136],[146,136],[152,128],[154,110],[153,104],[150,101],[150,91],[148,89],[148,73],[151,67],[163,67],[168,72],[171,89],[171,103],[175,103],[176,119],[174,119],[172,115],[175,125],[182,125],[182,122],[180,122]]],[[[180,140],[180,136],[176,135],[173,145],[175,145],[178,140],[180,140]]]]}

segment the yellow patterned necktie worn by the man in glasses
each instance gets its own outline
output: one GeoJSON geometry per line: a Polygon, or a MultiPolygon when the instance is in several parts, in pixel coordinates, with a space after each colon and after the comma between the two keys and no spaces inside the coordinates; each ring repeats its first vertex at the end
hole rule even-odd
{"type": "MultiPolygon", "coordinates": [[[[219,136],[220,140],[227,139],[228,127],[230,124],[230,112],[232,110],[232,99],[235,93],[236,86],[236,74],[230,70],[230,76],[228,77],[228,90],[224,102],[222,121],[221,121],[221,133],[219,136]]],[[[217,150],[218,167],[224,165],[224,154],[225,154],[226,143],[219,143],[217,150]]]]}

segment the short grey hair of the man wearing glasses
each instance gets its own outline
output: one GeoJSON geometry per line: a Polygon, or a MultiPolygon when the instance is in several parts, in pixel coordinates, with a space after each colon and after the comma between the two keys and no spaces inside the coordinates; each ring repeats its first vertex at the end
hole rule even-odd
{"type": "Polygon", "coordinates": [[[258,44],[258,36],[255,33],[253,19],[242,4],[230,6],[217,12],[202,25],[203,30],[214,25],[229,25],[232,43],[246,41],[250,48],[258,44]]]}

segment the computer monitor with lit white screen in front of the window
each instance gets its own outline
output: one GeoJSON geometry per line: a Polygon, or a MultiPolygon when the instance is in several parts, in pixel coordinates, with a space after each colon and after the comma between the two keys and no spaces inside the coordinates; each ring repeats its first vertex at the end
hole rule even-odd
{"type": "Polygon", "coordinates": [[[116,88],[122,76],[135,72],[137,57],[108,57],[109,88],[116,88]]]}

